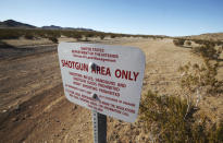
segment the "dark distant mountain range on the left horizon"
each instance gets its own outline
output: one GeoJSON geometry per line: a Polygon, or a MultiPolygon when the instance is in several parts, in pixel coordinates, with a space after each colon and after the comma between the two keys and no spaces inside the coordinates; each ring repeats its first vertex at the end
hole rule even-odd
{"type": "Polygon", "coordinates": [[[3,21],[3,22],[0,22],[0,28],[75,29],[75,31],[94,32],[94,29],[90,29],[90,28],[61,27],[61,26],[55,26],[55,25],[37,27],[37,26],[29,25],[29,24],[26,24],[26,23],[16,22],[14,20],[7,20],[7,21],[3,21]]]}

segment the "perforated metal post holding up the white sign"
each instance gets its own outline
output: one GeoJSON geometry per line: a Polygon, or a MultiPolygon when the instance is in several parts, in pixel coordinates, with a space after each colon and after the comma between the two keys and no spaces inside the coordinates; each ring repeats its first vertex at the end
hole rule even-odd
{"type": "Polygon", "coordinates": [[[92,110],[94,143],[107,143],[107,116],[92,110]]]}

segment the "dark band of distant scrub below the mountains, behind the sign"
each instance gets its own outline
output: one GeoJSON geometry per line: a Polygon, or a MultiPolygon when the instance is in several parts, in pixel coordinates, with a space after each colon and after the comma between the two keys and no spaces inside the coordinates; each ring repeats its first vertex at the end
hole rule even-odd
{"type": "Polygon", "coordinates": [[[88,39],[90,37],[99,37],[104,39],[104,37],[115,38],[115,37],[144,37],[144,38],[163,38],[168,36],[153,36],[153,35],[128,35],[128,34],[114,34],[114,33],[103,33],[96,31],[72,31],[72,29],[24,29],[24,28],[0,28],[0,39],[18,39],[20,37],[25,37],[26,39],[34,38],[49,38],[53,43],[58,43],[58,38],[61,36],[76,38],[77,40],[88,39]]]}

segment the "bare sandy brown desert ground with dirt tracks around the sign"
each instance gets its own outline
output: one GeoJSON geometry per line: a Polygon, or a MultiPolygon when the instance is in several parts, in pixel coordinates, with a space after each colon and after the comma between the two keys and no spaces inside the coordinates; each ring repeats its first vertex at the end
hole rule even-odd
{"type": "MultiPolygon", "coordinates": [[[[202,62],[189,48],[176,47],[172,40],[129,37],[86,43],[140,48],[146,55],[144,99],[149,90],[183,97],[179,65],[202,62]]],[[[223,79],[220,71],[219,79],[223,79]]],[[[222,96],[203,97],[199,107],[213,121],[223,118],[222,96]]],[[[0,48],[0,142],[89,143],[92,138],[91,111],[64,96],[57,45],[4,41],[0,48]]],[[[144,130],[139,118],[134,123],[108,118],[107,140],[141,143],[152,141],[152,135],[144,130]]]]}

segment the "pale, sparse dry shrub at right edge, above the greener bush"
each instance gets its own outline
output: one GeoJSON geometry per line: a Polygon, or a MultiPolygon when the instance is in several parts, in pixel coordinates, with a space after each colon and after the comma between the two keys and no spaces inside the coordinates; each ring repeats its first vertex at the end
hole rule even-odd
{"type": "Polygon", "coordinates": [[[222,93],[223,82],[216,79],[218,68],[219,63],[211,64],[208,60],[201,65],[187,63],[179,67],[182,72],[179,84],[189,93],[188,100],[196,95],[199,103],[201,95],[214,96],[222,93]]]}

